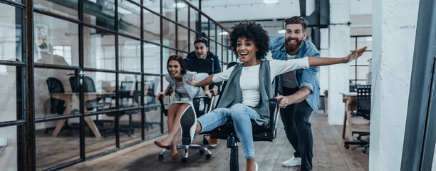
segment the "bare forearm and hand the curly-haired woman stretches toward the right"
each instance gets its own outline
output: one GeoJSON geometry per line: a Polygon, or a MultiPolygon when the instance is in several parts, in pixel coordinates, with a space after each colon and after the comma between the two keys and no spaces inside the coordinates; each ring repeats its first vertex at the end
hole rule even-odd
{"type": "Polygon", "coordinates": [[[358,49],[357,51],[353,51],[348,56],[343,58],[321,58],[321,57],[308,57],[309,66],[328,66],[338,63],[349,63],[355,58],[362,56],[362,54],[366,51],[366,46],[358,49]]]}

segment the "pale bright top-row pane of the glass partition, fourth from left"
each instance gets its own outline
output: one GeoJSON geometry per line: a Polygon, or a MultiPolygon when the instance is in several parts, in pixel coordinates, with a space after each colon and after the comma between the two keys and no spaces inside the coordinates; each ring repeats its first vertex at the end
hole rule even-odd
{"type": "Polygon", "coordinates": [[[118,31],[141,36],[141,9],[128,1],[118,0],[118,31]]]}

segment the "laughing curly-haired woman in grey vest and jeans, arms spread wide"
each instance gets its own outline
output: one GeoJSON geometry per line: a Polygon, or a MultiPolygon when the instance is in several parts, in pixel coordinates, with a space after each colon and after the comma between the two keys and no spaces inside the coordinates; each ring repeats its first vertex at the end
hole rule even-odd
{"type": "MultiPolygon", "coordinates": [[[[198,83],[187,81],[192,86],[206,86],[227,81],[217,109],[196,118],[195,113],[187,112],[180,116],[182,142],[189,145],[195,133],[213,130],[232,119],[234,130],[242,144],[246,158],[246,170],[257,170],[254,162],[254,143],[251,121],[257,124],[269,124],[269,99],[274,98],[273,78],[282,73],[311,66],[326,66],[336,63],[348,63],[365,51],[361,48],[344,58],[307,57],[290,61],[264,60],[268,52],[269,38],[260,24],[242,21],[234,26],[229,34],[230,48],[242,63],[227,71],[217,73],[198,83]]],[[[284,108],[287,98],[279,95],[279,107],[284,108]]],[[[192,110],[191,108],[188,110],[192,110]]]]}

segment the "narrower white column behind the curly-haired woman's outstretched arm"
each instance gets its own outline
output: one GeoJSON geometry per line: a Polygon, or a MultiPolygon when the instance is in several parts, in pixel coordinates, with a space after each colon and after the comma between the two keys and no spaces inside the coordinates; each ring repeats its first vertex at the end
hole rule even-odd
{"type": "MultiPolygon", "coordinates": [[[[350,53],[350,1],[330,1],[329,56],[342,57],[350,53]]],[[[328,67],[328,123],[343,124],[342,95],[349,90],[349,64],[328,67]]]]}

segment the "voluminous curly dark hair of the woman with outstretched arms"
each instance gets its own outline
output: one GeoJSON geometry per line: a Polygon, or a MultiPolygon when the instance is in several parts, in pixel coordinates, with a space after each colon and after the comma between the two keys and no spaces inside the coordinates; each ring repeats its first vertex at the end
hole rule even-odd
{"type": "Polygon", "coordinates": [[[256,59],[261,61],[268,53],[269,37],[268,32],[262,28],[260,24],[251,21],[241,21],[235,25],[233,31],[229,33],[229,45],[234,54],[237,54],[238,38],[245,37],[250,41],[254,41],[254,45],[259,51],[256,52],[256,59]]]}

